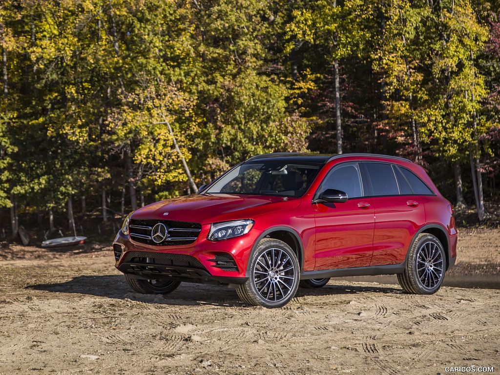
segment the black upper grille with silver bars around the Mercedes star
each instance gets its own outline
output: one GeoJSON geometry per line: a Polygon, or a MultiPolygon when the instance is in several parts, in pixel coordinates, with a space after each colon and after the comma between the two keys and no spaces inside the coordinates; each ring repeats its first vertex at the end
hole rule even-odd
{"type": "Polygon", "coordinates": [[[130,237],[137,242],[149,245],[187,245],[193,243],[201,231],[201,224],[197,222],[174,221],[174,220],[130,220],[128,225],[130,237]],[[162,242],[154,242],[151,238],[151,230],[157,223],[163,223],[167,228],[167,237],[162,242]]]}

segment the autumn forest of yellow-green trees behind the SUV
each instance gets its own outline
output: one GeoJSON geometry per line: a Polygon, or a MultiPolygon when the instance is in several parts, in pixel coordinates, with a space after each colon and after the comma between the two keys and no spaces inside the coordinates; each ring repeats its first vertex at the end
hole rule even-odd
{"type": "Polygon", "coordinates": [[[479,221],[498,203],[496,0],[1,0],[0,45],[7,237],[278,151],[398,155],[479,221]]]}

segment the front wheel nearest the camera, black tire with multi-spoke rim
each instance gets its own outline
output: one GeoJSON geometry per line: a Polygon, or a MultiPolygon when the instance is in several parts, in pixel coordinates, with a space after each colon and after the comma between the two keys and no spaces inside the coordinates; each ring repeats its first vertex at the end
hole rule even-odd
{"type": "Polygon", "coordinates": [[[281,307],[295,295],[300,278],[297,256],[285,242],[263,238],[250,261],[250,275],[236,292],[243,302],[281,307]]]}

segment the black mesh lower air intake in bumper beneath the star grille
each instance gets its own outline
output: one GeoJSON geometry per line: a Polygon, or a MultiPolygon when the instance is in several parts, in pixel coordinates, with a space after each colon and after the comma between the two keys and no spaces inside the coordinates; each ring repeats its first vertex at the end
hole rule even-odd
{"type": "Polygon", "coordinates": [[[191,255],[170,254],[151,251],[128,251],[122,263],[141,263],[170,265],[174,267],[206,269],[201,262],[191,255]]]}

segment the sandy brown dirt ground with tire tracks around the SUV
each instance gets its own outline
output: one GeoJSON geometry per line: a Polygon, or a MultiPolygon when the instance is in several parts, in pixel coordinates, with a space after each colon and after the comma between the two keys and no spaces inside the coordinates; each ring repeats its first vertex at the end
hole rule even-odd
{"type": "Polygon", "coordinates": [[[0,374],[500,371],[500,229],[460,230],[445,285],[466,287],[331,279],[280,309],[199,284],[137,294],[113,262],[110,243],[0,247],[0,374]]]}

